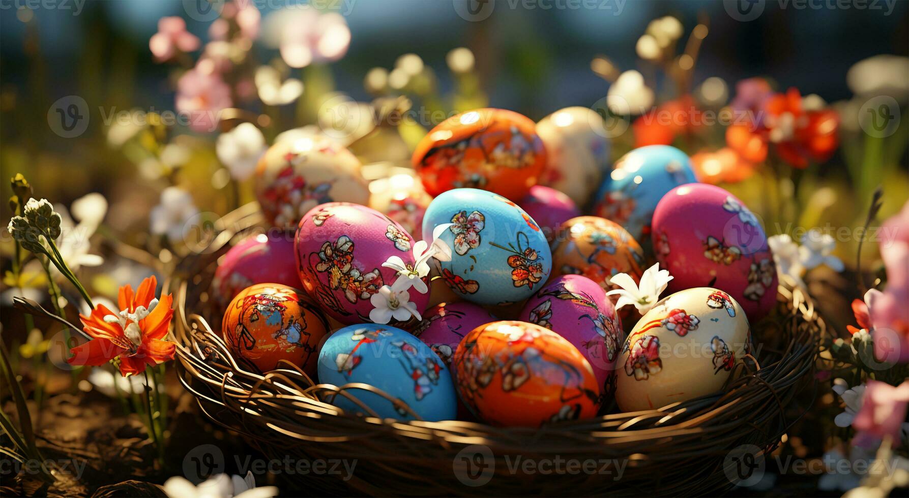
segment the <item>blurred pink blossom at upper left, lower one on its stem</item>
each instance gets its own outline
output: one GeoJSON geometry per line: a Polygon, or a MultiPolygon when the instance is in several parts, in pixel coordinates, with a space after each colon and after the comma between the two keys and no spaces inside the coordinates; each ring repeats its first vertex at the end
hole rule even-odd
{"type": "Polygon", "coordinates": [[[180,76],[176,87],[176,110],[197,132],[214,132],[221,111],[233,105],[230,86],[215,72],[195,67],[180,76]]]}

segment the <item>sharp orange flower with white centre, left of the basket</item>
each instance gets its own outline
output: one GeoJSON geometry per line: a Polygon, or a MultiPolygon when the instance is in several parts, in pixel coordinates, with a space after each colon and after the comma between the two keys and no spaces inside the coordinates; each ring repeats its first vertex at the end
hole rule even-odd
{"type": "Polygon", "coordinates": [[[121,311],[112,312],[98,304],[92,314],[79,315],[85,333],[93,339],[71,350],[69,364],[96,366],[120,358],[123,376],[140,374],[145,365],[156,365],[174,359],[176,344],[165,341],[174,310],[171,294],[155,299],[157,279],[152,275],[142,281],[133,294],[133,287],[120,287],[117,305],[121,311]]]}

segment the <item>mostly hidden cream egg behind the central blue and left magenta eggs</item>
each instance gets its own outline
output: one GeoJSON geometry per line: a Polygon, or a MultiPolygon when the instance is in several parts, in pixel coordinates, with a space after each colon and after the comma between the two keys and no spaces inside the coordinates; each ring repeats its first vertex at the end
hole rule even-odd
{"type": "Polygon", "coordinates": [[[433,198],[410,174],[395,174],[369,184],[369,206],[401,224],[416,240],[423,238],[423,215],[433,198]]]}

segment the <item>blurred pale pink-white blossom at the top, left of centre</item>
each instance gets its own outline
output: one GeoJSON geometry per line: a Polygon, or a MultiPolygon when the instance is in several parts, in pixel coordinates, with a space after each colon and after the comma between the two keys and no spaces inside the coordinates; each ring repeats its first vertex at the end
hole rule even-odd
{"type": "Polygon", "coordinates": [[[281,57],[291,67],[336,61],[347,53],[350,29],[344,16],[313,8],[278,11],[281,57]]]}

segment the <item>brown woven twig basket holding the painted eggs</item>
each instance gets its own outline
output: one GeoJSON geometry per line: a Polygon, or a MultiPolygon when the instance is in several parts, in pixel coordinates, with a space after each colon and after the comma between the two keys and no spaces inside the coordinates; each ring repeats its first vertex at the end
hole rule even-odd
{"type": "Polygon", "coordinates": [[[772,452],[814,402],[813,389],[799,393],[813,386],[824,321],[810,296],[783,283],[774,313],[752,324],[756,357],[747,357],[719,393],[539,429],[344,413],[328,401],[375,388],[316,384],[290,364],[251,373],[220,337],[208,298],[216,260],[237,235],[261,231],[261,221],[256,204],[219,220],[208,241],[177,265],[165,292],[175,294],[178,374],[205,415],[269,459],[328,461],[325,472],[287,475],[292,481],[283,486],[315,495],[717,493],[749,477],[744,453],[772,452]],[[338,462],[355,465],[353,473],[342,463],[327,472],[338,462]]]}

